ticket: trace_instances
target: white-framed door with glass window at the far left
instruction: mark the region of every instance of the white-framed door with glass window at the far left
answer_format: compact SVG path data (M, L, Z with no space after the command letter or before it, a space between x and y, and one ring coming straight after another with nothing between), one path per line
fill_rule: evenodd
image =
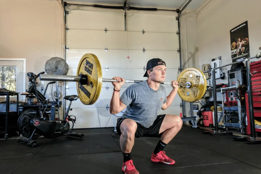
M20 94L25 89L25 79L23 72L23 61L2 61L0 59L0 88L6 88L10 91L16 91ZM25 101L24 96L19 95L19 101ZM5 97L1 96L1 101ZM16 97L10 96L10 100L16 100Z

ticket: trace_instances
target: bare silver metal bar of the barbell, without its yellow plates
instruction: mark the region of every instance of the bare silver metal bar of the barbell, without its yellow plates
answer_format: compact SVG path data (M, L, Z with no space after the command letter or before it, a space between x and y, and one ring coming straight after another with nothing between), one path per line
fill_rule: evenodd
M79 82L81 80L80 76L69 76L69 75L50 75L50 74L40 74L40 80L43 81L67 81L67 82ZM102 79L103 82L118 82L114 79ZM125 80L126 83L138 83L143 80ZM171 85L172 82L162 82L164 85ZM187 83L179 83L178 85L187 86Z

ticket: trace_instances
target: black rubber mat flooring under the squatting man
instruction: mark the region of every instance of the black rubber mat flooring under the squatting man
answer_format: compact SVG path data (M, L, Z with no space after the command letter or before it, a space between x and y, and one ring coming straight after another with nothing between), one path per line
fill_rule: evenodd
M0 173L108 173L123 174L120 137L111 129L76 130L78 138L38 139L30 148L17 140L0 140ZM183 126L164 149L176 164L150 161L158 138L135 139L134 165L140 173L261 173L261 145L213 137L201 129Z

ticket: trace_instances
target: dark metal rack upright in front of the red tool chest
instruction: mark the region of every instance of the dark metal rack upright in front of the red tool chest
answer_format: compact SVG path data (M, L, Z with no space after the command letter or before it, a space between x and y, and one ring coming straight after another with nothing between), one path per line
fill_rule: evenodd
M248 109L249 109L249 119L250 119L250 131L251 139L257 139L256 137L256 127L255 127L255 118L254 118L254 106L253 106L253 93L252 93L252 82L251 82L250 73L250 62L246 61L246 77L247 77L247 95L248 95Z

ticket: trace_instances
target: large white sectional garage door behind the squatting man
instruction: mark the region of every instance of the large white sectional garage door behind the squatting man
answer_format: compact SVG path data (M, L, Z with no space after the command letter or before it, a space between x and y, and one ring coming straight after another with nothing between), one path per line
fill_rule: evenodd
M127 31L124 31L123 10L77 6L66 8L69 11L66 16L69 28L66 38L66 46L69 47L66 52L69 65L67 75L76 75L81 57L85 53L92 53L99 58L103 78L120 76L129 80L146 80L143 77L143 68L146 67L147 61L151 58L161 58L167 64L166 81L176 80L180 63L175 12L172 15L158 15L157 12L146 14L142 11L127 11ZM105 28L108 30L106 33ZM105 47L108 51L105 51ZM125 83L121 94L131 84ZM66 85L66 95L77 94L75 82L66 82ZM172 87L165 87L169 94ZM73 101L73 110L69 115L77 117L75 128L112 127L113 117L107 107L110 105L112 93L112 84L103 82L100 96L93 105L84 105L79 99ZM165 111L162 110L160 114L179 115L180 102L181 99L177 95L171 106ZM68 106L69 102L66 105Z

